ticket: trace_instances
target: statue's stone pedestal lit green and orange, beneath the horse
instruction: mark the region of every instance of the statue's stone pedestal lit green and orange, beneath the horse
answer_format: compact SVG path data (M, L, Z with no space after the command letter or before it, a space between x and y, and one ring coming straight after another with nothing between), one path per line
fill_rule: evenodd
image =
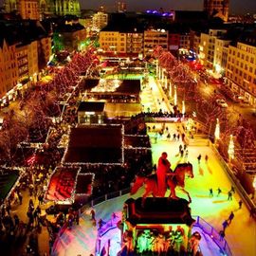
M141 197L130 198L122 218L126 255L186 255L195 222L187 200L148 197L142 203Z

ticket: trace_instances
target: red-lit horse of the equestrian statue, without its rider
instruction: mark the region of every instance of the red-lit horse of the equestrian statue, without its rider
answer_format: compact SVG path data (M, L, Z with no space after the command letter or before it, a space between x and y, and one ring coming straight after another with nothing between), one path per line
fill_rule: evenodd
M191 163L180 163L176 166L176 168L174 169L174 172L170 171L169 173L166 174L167 185L171 191L169 198L178 199L175 192L175 188L178 187L179 190L187 194L189 198L189 202L191 203L192 198L190 196L190 193L185 190L186 174L189 177L193 178ZM153 195L154 197L158 196L156 174L150 174L147 176L137 175L136 181L131 190L131 194L135 194L143 184L145 185L145 192L142 195L143 200L145 200L145 198L150 195Z

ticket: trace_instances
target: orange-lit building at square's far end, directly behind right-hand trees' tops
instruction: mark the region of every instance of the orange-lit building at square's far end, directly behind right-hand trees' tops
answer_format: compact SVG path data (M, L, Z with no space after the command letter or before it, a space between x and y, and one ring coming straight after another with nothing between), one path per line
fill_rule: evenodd
M144 31L144 56L151 55L155 46L168 50L169 32L165 29L147 29Z

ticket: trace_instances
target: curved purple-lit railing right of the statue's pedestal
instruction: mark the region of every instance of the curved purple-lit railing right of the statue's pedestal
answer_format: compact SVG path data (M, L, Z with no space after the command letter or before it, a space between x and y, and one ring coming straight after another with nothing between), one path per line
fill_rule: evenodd
M223 255L232 256L228 242L225 238L222 238L220 236L219 232L216 229L214 229L208 222L206 222L199 216L192 217L196 220L196 222L193 224L193 227L198 227L199 229L202 229L205 234L208 234L212 239L213 243L220 248L220 252Z

